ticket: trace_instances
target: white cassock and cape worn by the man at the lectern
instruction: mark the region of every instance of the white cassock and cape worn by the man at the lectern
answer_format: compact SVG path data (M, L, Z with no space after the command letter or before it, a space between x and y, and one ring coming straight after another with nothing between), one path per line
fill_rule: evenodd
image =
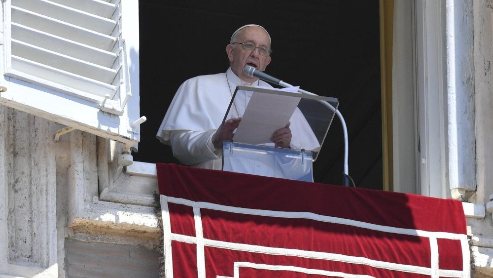
M222 149L214 148L211 137L224 119L239 85L272 87L262 80L247 83L236 76L231 68L226 73L188 79L178 88L156 137L171 146L173 155L181 163L220 170ZM231 118L243 116L250 97L251 94L237 94L235 108L230 111ZM312 150L319 147L301 111L296 109L290 122L292 149ZM304 138L306 143L301 143L302 134L305 134L303 137L311 134L310 140Z

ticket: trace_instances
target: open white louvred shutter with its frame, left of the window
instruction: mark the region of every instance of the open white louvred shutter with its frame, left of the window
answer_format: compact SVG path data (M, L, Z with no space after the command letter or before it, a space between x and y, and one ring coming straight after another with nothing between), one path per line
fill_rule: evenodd
M5 0L0 102L126 143L139 141L136 0Z

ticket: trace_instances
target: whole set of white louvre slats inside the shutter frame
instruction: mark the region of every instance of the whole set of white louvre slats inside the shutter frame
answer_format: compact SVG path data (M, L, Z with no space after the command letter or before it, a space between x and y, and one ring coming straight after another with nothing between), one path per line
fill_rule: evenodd
M116 97L122 82L120 4L11 0L11 72L85 97Z

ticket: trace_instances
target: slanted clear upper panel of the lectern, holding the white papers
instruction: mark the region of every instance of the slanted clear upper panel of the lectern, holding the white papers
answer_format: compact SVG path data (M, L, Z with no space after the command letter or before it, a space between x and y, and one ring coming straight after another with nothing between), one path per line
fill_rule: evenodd
M289 122L289 149L310 151L315 161L339 103L336 98L293 90L297 88L238 86L222 121L242 117L231 141L274 147L272 135Z

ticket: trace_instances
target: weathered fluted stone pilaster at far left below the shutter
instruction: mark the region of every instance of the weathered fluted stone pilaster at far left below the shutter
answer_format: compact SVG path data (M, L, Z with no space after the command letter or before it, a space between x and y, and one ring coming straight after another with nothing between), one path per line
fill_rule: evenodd
M2 274L56 273L55 159L48 135L53 123L0 106L3 144L0 154L4 192L0 210ZM48 143L47 143L48 142Z

